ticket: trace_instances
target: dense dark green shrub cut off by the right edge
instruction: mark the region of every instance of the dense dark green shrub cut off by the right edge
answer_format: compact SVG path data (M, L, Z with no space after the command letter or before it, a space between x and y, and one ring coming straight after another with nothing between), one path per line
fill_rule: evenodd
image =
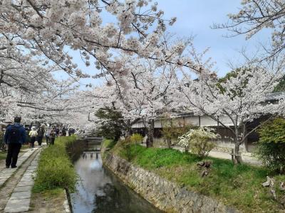
M285 173L285 119L277 118L259 129L257 155L271 171Z

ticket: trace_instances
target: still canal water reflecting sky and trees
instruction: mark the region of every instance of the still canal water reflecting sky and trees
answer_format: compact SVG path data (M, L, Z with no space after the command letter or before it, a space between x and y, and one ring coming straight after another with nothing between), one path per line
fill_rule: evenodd
M73 212L160 212L103 167L100 153L86 153L75 162L81 180L71 194Z

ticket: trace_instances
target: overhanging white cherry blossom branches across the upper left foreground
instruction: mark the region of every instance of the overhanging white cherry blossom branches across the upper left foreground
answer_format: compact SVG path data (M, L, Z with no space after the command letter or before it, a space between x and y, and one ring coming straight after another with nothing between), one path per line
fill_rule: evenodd
M103 13L113 21L105 23ZM1 1L1 32L12 35L16 45L44 55L68 74L87 77L68 49L78 50L86 65L116 78L125 62L120 54L137 55L160 64L179 64L195 70L188 58L180 55L182 44L165 47L163 33L167 24L157 4L145 0L121 1ZM196 70L199 71L199 70Z

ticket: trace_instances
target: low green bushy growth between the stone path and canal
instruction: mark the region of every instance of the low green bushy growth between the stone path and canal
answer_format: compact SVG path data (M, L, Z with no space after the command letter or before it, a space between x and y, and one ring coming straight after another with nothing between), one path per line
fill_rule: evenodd
M77 174L66 151L66 146L75 141L75 136L58 137L53 146L41 152L33 192L57 188L75 190Z

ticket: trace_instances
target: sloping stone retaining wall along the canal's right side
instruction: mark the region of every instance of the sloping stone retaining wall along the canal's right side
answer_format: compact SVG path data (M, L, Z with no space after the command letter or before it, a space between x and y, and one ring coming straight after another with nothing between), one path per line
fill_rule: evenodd
M165 212L239 212L222 202L185 190L155 173L135 167L112 153L104 153L103 163L126 185Z

